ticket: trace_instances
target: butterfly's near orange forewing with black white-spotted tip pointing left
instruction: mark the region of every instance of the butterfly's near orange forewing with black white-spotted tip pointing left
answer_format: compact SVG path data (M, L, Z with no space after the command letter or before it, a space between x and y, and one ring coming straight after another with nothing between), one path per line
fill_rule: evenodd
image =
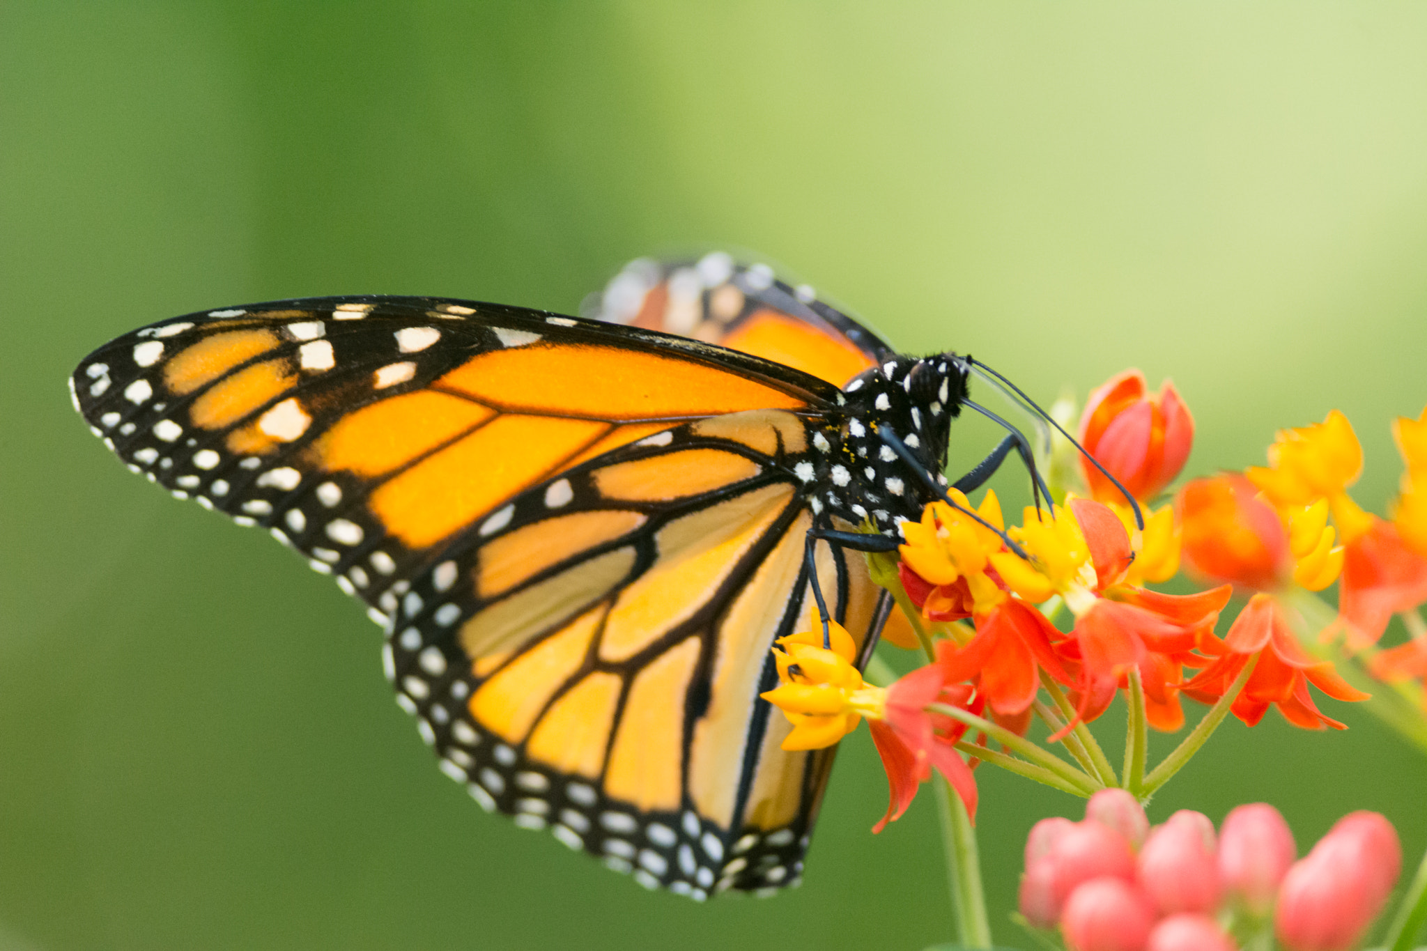
M428 298L194 314L107 344L71 386L131 469L268 528L382 615L452 536L564 469L684 421L836 399L694 341Z

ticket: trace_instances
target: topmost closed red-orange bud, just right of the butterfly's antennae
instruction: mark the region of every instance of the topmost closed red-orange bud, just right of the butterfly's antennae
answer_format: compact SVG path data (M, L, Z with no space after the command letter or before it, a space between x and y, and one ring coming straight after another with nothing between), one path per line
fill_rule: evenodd
M1184 468L1194 442L1194 419L1174 385L1147 394L1144 374L1127 369L1086 399L1080 445L1136 499L1152 499ZM1120 490L1087 459L1080 459L1090 493L1123 500Z

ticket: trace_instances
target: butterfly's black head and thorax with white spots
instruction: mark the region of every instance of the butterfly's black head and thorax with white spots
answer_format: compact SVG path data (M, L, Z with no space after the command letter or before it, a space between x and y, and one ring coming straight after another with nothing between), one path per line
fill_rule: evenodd
M816 468L799 473L819 486L811 500L813 512L853 525L870 520L883 533L902 519L920 518L936 496L878 433L890 431L946 485L940 473L950 422L966 398L966 364L955 354L890 356L855 376L842 391L841 429L813 438Z

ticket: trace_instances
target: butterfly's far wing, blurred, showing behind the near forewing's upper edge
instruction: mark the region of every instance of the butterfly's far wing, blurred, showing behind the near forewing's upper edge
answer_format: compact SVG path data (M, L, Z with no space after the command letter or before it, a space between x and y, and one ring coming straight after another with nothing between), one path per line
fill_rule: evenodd
M842 386L892 355L876 334L789 285L763 264L722 251L698 259L629 262L591 298L591 317L681 334L776 361Z

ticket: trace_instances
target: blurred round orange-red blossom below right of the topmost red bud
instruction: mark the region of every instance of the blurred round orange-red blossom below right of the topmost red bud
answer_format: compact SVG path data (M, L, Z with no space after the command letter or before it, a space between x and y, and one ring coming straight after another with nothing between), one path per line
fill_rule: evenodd
M1192 570L1257 590L1289 582L1289 533L1249 479L1229 473L1193 479L1179 490L1176 506Z

